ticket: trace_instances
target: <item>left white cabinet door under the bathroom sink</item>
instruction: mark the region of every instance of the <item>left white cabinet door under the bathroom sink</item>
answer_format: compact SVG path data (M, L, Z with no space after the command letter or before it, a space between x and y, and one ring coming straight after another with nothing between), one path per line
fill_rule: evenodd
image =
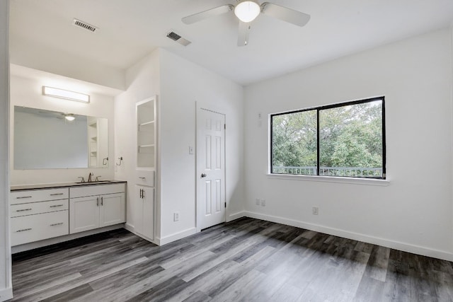
M99 227L98 196L69 199L69 233L78 233Z

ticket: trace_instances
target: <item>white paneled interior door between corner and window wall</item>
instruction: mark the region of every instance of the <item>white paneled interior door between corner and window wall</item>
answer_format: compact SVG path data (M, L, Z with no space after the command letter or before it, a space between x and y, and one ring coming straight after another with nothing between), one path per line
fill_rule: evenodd
M197 110L197 229L225 221L225 115Z

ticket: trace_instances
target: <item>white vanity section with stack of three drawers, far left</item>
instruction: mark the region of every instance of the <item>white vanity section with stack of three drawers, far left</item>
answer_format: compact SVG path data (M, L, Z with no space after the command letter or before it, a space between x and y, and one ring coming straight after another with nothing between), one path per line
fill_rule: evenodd
M69 234L69 189L11 192L11 245Z

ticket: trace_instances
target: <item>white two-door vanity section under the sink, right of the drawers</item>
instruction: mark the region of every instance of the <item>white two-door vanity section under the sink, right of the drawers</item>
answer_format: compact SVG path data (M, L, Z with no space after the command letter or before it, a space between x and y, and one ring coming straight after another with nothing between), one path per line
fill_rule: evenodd
M79 233L126 221L125 185L69 188L69 233Z

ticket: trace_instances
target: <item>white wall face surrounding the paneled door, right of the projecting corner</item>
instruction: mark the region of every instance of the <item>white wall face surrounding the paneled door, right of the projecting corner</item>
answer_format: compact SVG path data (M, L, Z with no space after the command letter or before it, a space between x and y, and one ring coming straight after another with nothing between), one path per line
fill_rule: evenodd
M243 88L161 50L161 240L195 231L195 102L226 114L226 217L243 211ZM179 221L173 213L180 212Z

